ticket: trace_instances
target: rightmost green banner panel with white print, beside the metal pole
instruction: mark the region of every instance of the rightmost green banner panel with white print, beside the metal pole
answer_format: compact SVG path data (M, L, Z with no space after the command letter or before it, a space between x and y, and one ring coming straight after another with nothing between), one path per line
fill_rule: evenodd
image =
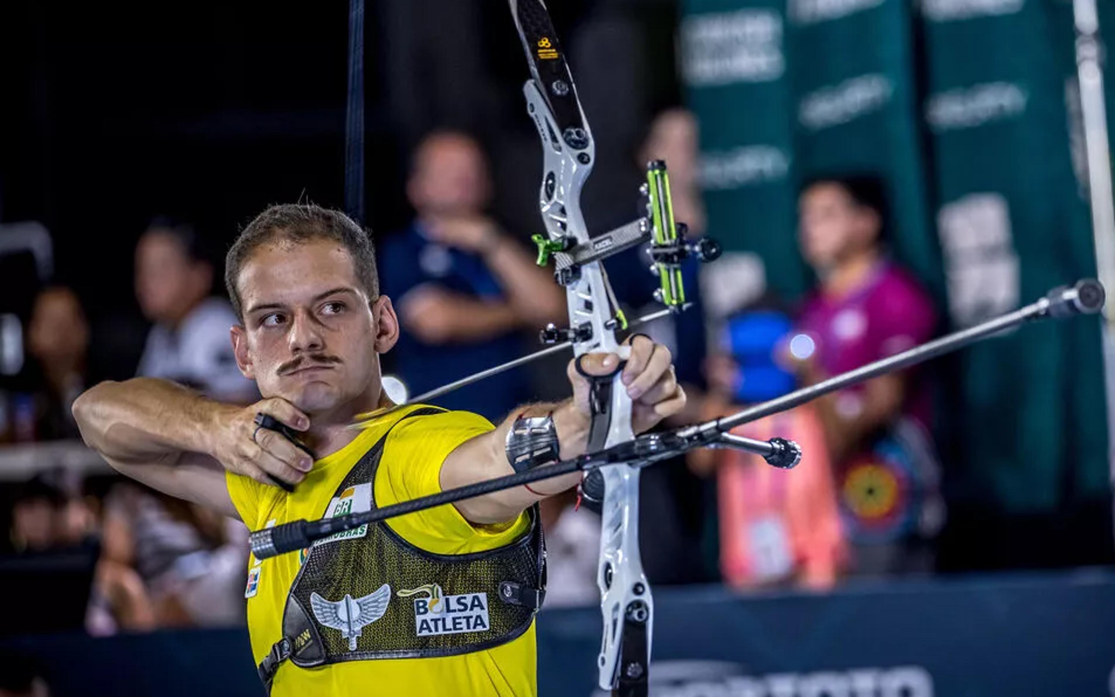
M1066 108L1070 12L1037 0L922 3L925 122L958 326L1095 274ZM962 370L964 464L980 491L1043 511L1069 488L1106 490L1095 321L992 339L966 352Z

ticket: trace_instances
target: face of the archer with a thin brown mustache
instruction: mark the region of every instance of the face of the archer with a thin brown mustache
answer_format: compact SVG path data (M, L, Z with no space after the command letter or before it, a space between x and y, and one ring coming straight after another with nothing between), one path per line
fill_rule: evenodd
M233 328L236 361L263 397L282 397L311 417L375 406L378 354L395 343L398 321L386 296L369 307L343 245L264 244L237 284L244 325Z

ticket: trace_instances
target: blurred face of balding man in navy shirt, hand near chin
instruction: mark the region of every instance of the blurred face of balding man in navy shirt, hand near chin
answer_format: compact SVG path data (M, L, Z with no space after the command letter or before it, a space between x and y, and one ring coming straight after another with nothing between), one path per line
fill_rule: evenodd
M418 149L407 184L410 204L420 216L476 215L488 199L484 155L471 139L435 136Z

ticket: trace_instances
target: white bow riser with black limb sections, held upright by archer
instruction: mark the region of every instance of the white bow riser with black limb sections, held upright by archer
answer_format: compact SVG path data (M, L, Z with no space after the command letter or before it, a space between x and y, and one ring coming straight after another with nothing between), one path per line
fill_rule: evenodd
M539 209L547 239L540 240L540 261L549 253L558 256L558 281L565 287L569 339L578 370L588 352L618 354L621 359L608 376L581 371L590 383L586 448L591 453L634 437L631 398L621 379L630 348L621 346L614 333L617 327L626 329L627 322L615 307L601 260L570 263L572 250L589 249L593 242L580 199L595 161L595 144L545 6L541 0L510 2L533 78L523 88L526 108L544 153ZM600 474L604 494L597 583L604 632L599 684L613 694L646 695L653 601L639 554L638 463L609 464Z

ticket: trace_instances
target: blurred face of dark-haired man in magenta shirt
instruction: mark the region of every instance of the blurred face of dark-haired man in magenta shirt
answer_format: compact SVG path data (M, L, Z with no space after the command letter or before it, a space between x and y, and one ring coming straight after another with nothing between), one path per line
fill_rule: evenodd
M798 202L802 255L816 271L838 265L864 245L874 243L878 216L859 205L844 187L822 183L806 190Z

